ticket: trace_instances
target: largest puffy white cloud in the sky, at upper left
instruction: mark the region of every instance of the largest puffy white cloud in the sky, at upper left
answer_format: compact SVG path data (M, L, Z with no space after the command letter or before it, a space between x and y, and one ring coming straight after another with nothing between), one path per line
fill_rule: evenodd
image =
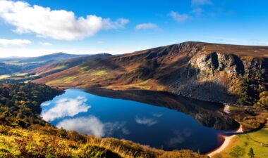
M59 40L75 40L92 37L102 29L124 27L129 20L112 21L97 15L76 17L72 11L51 10L31 6L24 1L0 1L0 18L13 25L20 34L35 33L37 37Z

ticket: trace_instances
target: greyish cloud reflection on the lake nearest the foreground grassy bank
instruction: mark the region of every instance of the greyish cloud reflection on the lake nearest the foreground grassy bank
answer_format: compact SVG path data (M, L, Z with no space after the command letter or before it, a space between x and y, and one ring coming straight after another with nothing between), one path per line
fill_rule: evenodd
M121 131L123 134L128 135L128 131L124 127L125 123L120 122L102 122L95 116L78 117L74 119L64 119L57 124L57 127L63 129L79 131L87 135L94 135L98 137L111 136L115 131Z

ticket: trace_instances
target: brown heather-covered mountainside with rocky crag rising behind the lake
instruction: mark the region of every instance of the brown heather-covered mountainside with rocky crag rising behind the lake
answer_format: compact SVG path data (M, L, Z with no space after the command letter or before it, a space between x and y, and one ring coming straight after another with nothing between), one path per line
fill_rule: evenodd
M268 89L267 65L268 46L185 42L91 58L34 82L61 88L169 91L217 103L245 97L241 104L253 104Z

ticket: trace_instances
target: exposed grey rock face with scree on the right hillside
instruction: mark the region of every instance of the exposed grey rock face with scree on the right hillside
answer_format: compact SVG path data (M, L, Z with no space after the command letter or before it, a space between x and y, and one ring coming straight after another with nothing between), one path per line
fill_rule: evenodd
M172 79L169 90L200 100L235 103L236 97L230 95L229 89L238 77L249 76L262 69L267 71L267 59L201 51L190 58L188 67L181 70L174 77L176 79Z

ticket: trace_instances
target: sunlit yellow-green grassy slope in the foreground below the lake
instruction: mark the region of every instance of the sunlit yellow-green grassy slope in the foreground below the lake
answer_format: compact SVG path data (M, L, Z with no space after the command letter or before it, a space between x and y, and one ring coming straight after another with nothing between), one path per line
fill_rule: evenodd
M0 157L105 157L105 153L113 157L193 157L202 158L188 150L165 152L151 147L132 143L128 140L114 138L95 138L80 136L77 133L63 136L63 131L53 127L35 127L37 129L9 128L0 125ZM58 132L58 134L55 134ZM52 133L54 132L54 134ZM61 133L61 136L59 134ZM85 141L85 140L86 141ZM96 148L92 151L92 148ZM105 151L102 153L102 151ZM95 153L93 153L95 152ZM94 156L93 156L94 155Z

